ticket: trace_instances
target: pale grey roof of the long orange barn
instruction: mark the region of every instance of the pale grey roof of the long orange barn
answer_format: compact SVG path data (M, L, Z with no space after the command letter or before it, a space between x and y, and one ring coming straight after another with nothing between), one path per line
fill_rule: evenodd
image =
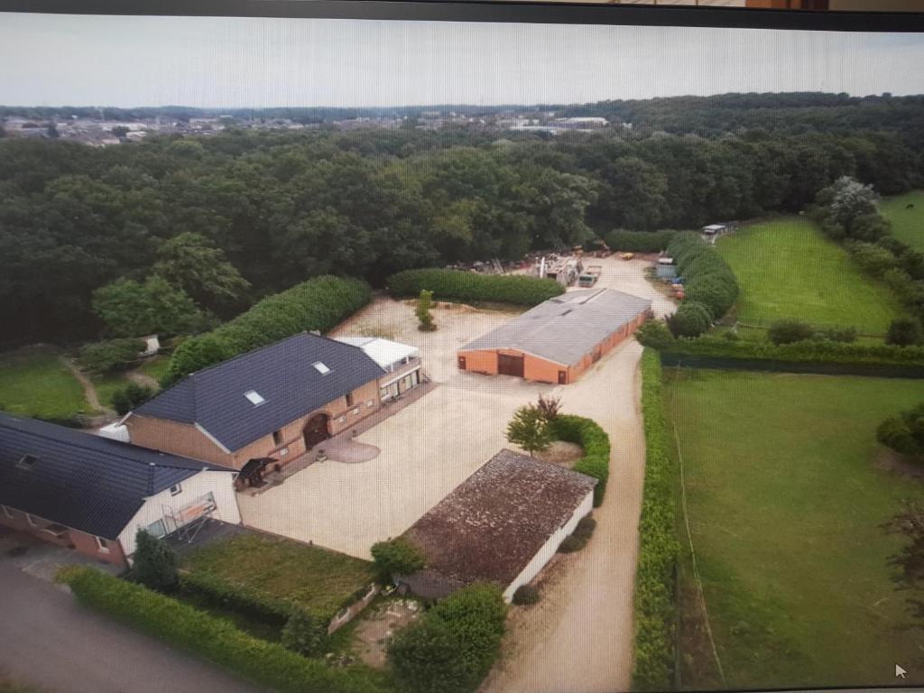
M519 349L570 366L650 308L648 298L614 289L567 291L482 334L459 350Z

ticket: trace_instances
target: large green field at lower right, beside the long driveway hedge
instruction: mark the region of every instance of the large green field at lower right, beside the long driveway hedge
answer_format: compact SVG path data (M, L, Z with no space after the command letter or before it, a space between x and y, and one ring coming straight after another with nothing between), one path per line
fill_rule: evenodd
M924 683L924 634L881 523L924 480L879 467L877 423L924 401L924 382L730 371L668 372L693 544L728 687ZM682 611L699 614L687 535ZM702 632L684 628L684 687L723 687ZM903 664L905 665L905 664Z

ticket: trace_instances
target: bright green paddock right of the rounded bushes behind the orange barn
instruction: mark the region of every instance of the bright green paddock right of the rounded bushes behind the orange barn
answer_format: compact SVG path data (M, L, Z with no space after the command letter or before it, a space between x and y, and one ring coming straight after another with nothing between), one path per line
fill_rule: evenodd
M787 217L749 226L717 248L741 285L741 322L801 318L885 334L900 312L888 289L860 274L845 250L807 220Z

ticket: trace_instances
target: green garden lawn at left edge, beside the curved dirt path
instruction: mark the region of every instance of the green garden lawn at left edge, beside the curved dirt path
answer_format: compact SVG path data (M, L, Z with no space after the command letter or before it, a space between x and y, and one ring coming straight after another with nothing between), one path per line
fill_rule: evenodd
M27 417L67 418L88 411L83 388L50 348L0 354L0 409Z

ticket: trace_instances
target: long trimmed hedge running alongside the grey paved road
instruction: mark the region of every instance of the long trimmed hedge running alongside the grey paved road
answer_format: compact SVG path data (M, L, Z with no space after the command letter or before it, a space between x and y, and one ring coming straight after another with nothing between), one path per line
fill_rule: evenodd
M253 638L227 621L93 568L66 568L60 578L85 606L193 652L260 687L291 693L383 690L362 672L332 669L321 660Z

